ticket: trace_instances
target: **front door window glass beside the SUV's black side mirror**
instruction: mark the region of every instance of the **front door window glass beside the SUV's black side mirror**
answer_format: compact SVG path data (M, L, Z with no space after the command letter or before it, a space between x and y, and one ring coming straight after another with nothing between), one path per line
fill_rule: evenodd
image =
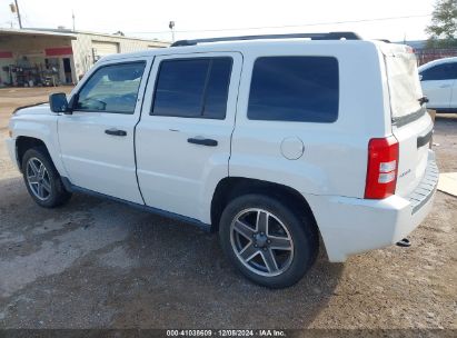
M101 67L82 87L74 110L133 113L146 62Z

